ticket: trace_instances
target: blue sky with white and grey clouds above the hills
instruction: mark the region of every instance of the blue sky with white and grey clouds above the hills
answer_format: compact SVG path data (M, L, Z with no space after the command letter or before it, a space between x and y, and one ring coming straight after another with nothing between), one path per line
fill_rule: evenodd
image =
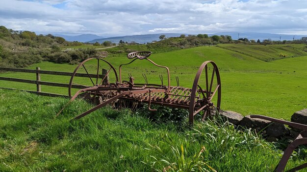
M307 0L0 0L0 25L37 34L307 34Z

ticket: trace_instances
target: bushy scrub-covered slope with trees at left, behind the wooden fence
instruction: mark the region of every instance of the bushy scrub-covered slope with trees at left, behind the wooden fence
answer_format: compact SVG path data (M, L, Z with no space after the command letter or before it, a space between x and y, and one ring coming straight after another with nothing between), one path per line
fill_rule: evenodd
M26 67L42 61L77 64L90 57L105 56L95 49L65 51L61 48L82 44L67 42L51 34L36 35L35 32L14 31L0 26L0 66Z

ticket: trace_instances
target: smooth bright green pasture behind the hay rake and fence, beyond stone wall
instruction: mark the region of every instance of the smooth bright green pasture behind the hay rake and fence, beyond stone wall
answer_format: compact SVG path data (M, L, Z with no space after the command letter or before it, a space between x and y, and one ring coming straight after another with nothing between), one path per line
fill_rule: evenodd
M231 46L242 54L219 46ZM222 81L221 108L233 110L243 115L262 114L276 118L290 119L293 112L306 108L307 105L307 56L295 55L281 60L265 62L248 54L255 53L257 57L278 57L281 52L270 51L271 45L222 44L219 46L203 46L181 49L166 53L151 55L157 64L168 66L171 71L171 85L176 86L176 76L179 76L180 86L192 87L199 66L207 61L214 61L220 70ZM261 51L254 51L251 46L258 46ZM273 45L272 45L273 46ZM280 46L280 47L278 47ZM288 45L274 45L275 49L283 49ZM299 47L301 45L289 45ZM302 45L303 46L303 45ZM266 48L266 49L263 49ZM286 54L294 53L283 50ZM293 55L294 56L294 55ZM278 59L278 58L277 58ZM127 57L105 58L118 69L119 64L128 63ZM92 65L95 65L94 62ZM73 72L76 65L53 64L42 62L29 68L39 66L42 70ZM108 68L107 68L108 69ZM140 61L124 68L125 80L128 72L136 79L136 83L144 82L142 73L147 75L150 83L160 83L159 73L163 74L166 82L165 70L157 69L152 64ZM35 74L1 73L3 77L17 77L35 80ZM43 81L69 83L70 77L42 75ZM1 87L35 90L35 85L0 81ZM42 86L42 91L67 94L67 88Z

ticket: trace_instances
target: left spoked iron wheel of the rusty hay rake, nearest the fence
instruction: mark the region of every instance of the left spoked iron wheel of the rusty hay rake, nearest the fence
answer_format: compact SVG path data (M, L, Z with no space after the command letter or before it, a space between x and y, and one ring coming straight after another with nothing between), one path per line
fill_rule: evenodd
M87 59L75 69L69 82L68 95L74 96L80 88L107 86L109 79L115 80L114 83L118 82L116 70L110 63L101 58ZM81 93L78 97L98 105L109 99L110 96L112 96L110 90L93 90Z

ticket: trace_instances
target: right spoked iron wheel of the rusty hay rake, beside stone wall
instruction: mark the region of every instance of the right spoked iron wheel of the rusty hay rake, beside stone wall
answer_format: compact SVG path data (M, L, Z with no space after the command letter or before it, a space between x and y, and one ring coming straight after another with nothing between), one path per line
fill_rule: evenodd
M202 111L203 121L213 116L216 110L220 110L220 105L220 73L214 62L206 61L200 66L194 79L190 98L189 123L193 125L194 116Z

